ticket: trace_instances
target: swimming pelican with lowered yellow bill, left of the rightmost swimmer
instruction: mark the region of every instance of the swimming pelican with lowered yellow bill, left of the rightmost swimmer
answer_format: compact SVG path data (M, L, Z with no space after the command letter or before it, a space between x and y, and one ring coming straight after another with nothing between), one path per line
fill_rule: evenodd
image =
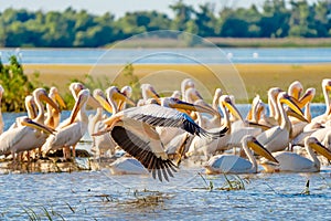
M204 166L206 173L256 173L257 162L248 148L270 161L277 162L273 155L254 136L246 135L243 137L242 147L249 161L236 155L217 155L212 157Z

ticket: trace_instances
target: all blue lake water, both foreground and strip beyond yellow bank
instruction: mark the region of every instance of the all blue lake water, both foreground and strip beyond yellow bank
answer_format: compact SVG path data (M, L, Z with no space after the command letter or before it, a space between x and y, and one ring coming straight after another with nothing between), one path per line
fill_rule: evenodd
M0 49L23 64L328 63L331 49ZM248 105L237 105L246 115ZM312 115L325 106L313 104ZM63 112L63 118L68 116ZM4 113L6 129L25 113ZM89 140L85 136L84 140ZM77 148L90 148L78 144ZM113 176L107 169L61 173L0 173L0 220L331 220L331 167L317 173L239 176L245 189L226 189L225 177L181 166L170 182L151 176ZM202 173L202 175L201 175ZM227 176L229 180L237 177ZM307 180L310 194L305 194ZM214 189L209 190L210 183ZM35 214L35 215L34 215Z

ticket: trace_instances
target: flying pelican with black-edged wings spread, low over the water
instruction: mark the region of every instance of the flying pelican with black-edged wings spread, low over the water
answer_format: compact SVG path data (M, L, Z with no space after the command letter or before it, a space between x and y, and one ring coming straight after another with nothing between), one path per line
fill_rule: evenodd
M169 181L168 177L173 177L172 172L175 171L175 166L164 151L160 136L156 131L157 126L180 127L192 135L214 138L223 136L227 128L209 133L196 125L186 114L174 109L199 112L205 110L205 107L173 97L162 98L161 105L150 104L124 109L106 119L107 129L95 135L110 131L118 146L138 159L152 172L154 179L158 176L160 181L162 181L162 177Z

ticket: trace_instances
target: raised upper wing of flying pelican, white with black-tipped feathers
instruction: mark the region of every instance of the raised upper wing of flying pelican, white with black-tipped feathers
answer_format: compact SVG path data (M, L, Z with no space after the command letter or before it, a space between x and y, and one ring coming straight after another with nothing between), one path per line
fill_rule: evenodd
M227 127L224 127L216 133L206 131L195 124L186 114L154 104L132 107L125 110L124 114L126 117L143 122L154 127L179 127L197 136L202 135L205 137L218 138L224 136L227 130Z

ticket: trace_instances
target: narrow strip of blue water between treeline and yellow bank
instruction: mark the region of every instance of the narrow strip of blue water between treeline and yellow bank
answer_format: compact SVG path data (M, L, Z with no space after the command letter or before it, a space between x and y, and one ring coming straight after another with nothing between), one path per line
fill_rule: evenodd
M218 64L330 63L331 48L316 49L0 49L3 62L18 54L23 64Z

